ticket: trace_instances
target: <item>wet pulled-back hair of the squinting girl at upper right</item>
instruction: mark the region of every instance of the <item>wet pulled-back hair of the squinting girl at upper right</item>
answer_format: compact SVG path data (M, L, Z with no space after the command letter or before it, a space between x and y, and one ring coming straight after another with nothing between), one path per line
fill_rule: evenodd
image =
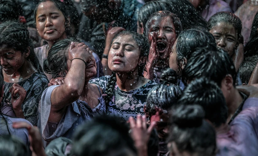
M210 31L212 29L212 27L216 26L218 23L229 23L231 24L237 33L237 40L236 42L238 42L238 40L240 41L240 43L244 44L244 38L241 35L241 31L242 31L242 22L240 20L239 17L237 17L235 14L231 13L231 12L218 12L214 15L211 16L211 18L209 19L208 22L208 31Z

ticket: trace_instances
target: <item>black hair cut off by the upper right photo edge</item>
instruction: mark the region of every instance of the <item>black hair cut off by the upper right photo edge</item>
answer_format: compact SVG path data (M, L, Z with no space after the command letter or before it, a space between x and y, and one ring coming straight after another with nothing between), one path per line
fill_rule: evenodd
M258 55L258 12L255 14L251 31L250 31L250 37L248 42L245 44L244 47L244 57L249 57L253 55Z

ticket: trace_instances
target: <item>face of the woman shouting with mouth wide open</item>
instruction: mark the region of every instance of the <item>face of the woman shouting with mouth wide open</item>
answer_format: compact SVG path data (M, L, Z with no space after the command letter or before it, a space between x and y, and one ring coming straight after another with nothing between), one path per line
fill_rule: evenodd
M169 16L153 17L149 34L154 32L157 32L156 45L159 59L167 59L176 40L176 31L171 18Z

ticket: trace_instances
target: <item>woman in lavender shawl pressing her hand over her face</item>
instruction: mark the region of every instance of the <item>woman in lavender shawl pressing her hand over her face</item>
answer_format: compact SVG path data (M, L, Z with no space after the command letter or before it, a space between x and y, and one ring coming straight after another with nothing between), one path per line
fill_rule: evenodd
M44 70L53 78L65 77L62 85L48 87L41 97L38 127L45 147L55 138L71 138L78 125L105 114L106 105L102 89L89 83L96 75L92 51L79 40L56 41L44 61Z

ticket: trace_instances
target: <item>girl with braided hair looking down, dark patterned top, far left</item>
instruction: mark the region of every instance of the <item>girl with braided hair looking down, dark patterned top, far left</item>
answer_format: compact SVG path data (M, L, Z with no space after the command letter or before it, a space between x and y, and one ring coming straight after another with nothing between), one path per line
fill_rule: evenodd
M13 105L16 117L25 118L36 126L39 101L48 80L34 53L29 31L23 24L8 21L0 25L0 58L4 77L3 100L11 104L18 93L24 101Z

